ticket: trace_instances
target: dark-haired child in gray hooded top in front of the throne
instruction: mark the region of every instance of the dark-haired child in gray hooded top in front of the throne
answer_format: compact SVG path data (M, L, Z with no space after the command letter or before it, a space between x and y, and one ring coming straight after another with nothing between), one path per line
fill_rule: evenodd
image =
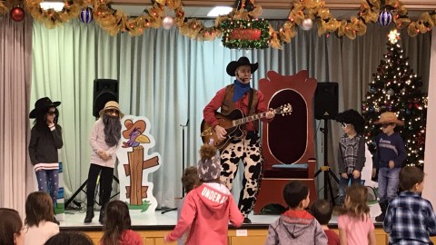
M309 206L309 188L301 181L290 181L283 189L289 206L268 230L265 245L270 244L327 244L327 236L318 220L304 209Z

